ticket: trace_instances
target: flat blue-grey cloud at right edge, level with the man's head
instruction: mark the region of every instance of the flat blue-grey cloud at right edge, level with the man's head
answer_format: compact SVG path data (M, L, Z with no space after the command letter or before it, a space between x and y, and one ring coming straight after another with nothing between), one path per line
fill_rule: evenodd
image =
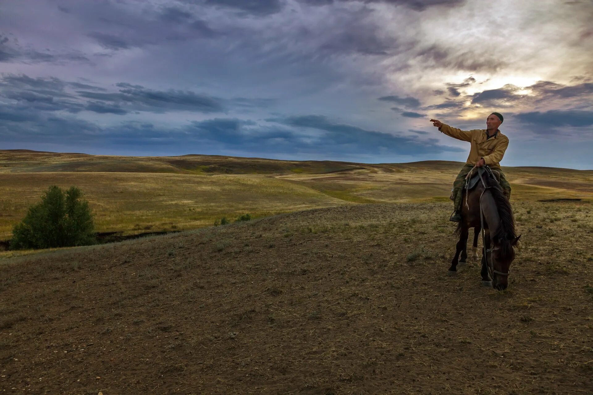
M538 129L533 131L540 131L546 133L549 127L585 127L593 125L593 111L579 111L579 110L549 110L549 111L534 111L531 113L522 113L515 115L519 121L537 126ZM591 133L589 131L589 133Z

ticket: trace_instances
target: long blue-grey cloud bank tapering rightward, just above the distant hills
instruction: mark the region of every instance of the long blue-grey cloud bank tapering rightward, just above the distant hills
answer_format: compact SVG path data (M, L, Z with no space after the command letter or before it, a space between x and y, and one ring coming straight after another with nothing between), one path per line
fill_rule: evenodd
M167 145L180 152L232 149L234 152L311 155L461 152L441 146L435 140L419 142L415 138L391 136L345 124L332 123L324 117L285 118L283 124L263 126L237 118L214 118L193 121L181 127L156 127L151 123L123 122L101 127L72 117L26 114L0 110L0 133L7 142L52 143L56 139L69 144L93 144L120 149ZM320 131L314 137L303 134L306 127Z

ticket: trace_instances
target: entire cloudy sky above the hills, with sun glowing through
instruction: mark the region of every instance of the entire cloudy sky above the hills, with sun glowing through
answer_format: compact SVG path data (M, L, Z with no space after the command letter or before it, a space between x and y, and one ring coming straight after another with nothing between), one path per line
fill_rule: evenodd
M0 149L593 169L593 2L4 0Z

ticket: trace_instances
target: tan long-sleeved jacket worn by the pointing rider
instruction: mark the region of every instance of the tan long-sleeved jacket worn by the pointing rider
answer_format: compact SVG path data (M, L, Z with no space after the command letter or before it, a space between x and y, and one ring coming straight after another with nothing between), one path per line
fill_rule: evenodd
M484 158L486 165L492 168L500 168L500 160L505 155L506 147L509 146L508 137L500 133L500 130L497 130L490 139L486 139L485 129L461 130L442 124L439 130L447 134L447 136L471 143L467 163L475 165L480 158Z

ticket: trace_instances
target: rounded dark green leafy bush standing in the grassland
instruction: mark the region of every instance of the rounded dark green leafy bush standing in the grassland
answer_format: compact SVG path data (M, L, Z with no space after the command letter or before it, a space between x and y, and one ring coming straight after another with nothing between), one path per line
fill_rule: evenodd
M53 185L12 229L11 249L55 248L95 242L93 213L82 191Z

